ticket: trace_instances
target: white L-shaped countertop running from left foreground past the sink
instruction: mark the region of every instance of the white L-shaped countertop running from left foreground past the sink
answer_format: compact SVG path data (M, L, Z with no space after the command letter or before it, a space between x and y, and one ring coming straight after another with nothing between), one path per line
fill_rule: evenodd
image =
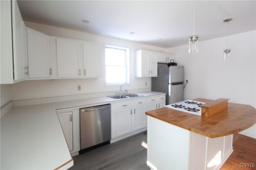
M136 93L143 96L161 92ZM1 169L55 169L73 165L56 109L129 99L87 98L13 107L1 118ZM69 166L69 167L70 167Z

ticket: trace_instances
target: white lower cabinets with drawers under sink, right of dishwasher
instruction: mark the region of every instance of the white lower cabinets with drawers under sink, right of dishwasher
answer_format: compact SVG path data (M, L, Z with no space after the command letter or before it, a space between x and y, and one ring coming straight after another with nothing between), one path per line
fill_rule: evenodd
M111 104L112 142L146 130L145 112L164 106L165 94L122 100Z

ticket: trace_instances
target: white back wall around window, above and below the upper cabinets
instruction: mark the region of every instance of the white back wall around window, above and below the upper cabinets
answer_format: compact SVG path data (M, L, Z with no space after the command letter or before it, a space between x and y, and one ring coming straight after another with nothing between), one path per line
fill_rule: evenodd
M27 27L45 33L51 36L79 39L95 43L103 43L127 47L130 49L130 86L124 86L123 89L143 89L151 88L150 78L134 77L134 54L136 50L145 49L150 51L166 52L166 49L134 43L110 37L93 35L85 32L42 25L38 23L25 22ZM104 69L103 69L104 70ZM147 82L147 86L145 86ZM77 91L77 85L81 85L82 90ZM86 94L94 92L118 91L119 86L105 86L104 78L94 79L70 79L70 80L27 80L11 85L12 100L46 98L55 96L66 96L75 94Z

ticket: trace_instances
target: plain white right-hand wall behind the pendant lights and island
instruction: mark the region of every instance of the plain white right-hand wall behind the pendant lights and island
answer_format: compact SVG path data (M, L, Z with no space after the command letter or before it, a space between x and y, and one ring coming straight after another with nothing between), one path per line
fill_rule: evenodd
M184 65L188 80L185 99L228 98L229 102L256 107L256 31L228 39L230 61L223 60L226 37L199 42L198 54L188 54L188 45L168 49L178 65ZM256 126L243 134L256 138Z

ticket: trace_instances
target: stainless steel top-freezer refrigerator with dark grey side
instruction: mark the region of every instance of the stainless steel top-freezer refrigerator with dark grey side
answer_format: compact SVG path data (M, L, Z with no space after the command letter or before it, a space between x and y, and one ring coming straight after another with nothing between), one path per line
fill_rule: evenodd
M166 105L184 100L184 66L158 63L158 76L152 77L151 90L166 93Z

